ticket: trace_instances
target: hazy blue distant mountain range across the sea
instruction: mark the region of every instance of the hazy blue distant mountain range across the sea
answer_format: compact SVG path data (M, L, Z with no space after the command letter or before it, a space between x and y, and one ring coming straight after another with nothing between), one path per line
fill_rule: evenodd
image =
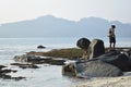
M31 21L7 23L0 26L0 38L19 37L107 37L110 25L116 25L117 37L131 37L131 24L85 17L79 22L51 15Z

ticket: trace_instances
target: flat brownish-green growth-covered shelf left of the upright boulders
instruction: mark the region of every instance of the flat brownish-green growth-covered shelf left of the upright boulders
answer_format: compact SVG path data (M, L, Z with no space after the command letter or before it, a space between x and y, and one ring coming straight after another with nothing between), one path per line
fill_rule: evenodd
M78 59L83 54L83 50L78 48L69 49L53 49L48 52L28 52L27 54L43 55L43 57L53 57L53 58L67 58L67 59Z

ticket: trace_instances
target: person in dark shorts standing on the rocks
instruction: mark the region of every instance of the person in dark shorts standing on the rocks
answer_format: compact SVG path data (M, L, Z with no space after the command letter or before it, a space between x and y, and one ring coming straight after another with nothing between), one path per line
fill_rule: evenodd
M115 25L111 25L111 28L109 28L109 48L110 50L115 50L115 46L116 46L116 36L115 36Z

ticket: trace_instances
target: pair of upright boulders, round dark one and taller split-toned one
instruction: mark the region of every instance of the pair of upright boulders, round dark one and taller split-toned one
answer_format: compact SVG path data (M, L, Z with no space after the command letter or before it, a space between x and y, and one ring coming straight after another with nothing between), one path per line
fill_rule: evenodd
M81 38L76 46L84 50L83 59L92 59L105 53L104 41L100 39L90 41L87 38Z

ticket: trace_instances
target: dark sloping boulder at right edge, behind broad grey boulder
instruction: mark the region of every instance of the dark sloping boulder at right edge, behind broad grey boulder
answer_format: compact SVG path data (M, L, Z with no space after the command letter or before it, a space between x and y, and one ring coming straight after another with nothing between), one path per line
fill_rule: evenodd
M97 59L100 59L102 61L112 64L117 67L119 67L122 72L129 72L131 71L131 60L129 57L127 57L124 53L120 53L119 51L110 51L107 52Z

